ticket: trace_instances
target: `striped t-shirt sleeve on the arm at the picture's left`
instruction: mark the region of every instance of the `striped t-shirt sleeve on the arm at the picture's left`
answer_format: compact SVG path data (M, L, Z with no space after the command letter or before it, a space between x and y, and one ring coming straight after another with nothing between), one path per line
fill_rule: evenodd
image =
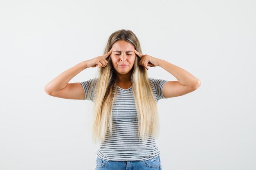
M97 79L88 79L84 82L80 82L83 87L85 98L83 100L90 100L94 102L95 90L97 85Z

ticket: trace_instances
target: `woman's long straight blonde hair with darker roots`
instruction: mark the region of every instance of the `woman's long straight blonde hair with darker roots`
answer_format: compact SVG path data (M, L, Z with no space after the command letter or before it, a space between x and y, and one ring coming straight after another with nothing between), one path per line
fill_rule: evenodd
M130 30L121 29L112 33L108 39L104 54L110 51L112 45L118 40L126 40L135 46L136 51L142 53L139 40ZM109 128L112 135L112 106L117 97L117 82L115 70L112 66L111 57L106 58L107 66L99 68L99 78L97 82L97 92L93 107L92 139L94 143L105 140L106 132ZM157 102L154 99L150 87L146 68L139 65L140 57L136 55L134 66L132 67L130 81L132 83L132 93L135 97L137 108L137 120L139 126L138 136L140 140L146 140L149 136L158 136L159 117ZM114 95L114 97L113 97Z

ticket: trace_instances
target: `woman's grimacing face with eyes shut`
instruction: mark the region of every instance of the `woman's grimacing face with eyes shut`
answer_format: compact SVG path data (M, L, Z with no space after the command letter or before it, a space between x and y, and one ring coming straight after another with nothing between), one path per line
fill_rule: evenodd
M134 46L125 40L112 45L111 61L117 73L124 75L131 71L136 57L133 49Z

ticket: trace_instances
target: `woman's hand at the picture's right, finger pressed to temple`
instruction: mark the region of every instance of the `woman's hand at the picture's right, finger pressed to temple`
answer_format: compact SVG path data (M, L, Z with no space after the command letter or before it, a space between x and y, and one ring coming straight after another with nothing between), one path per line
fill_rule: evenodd
M140 61L139 61L139 65L144 66L147 70L148 70L148 66L150 67L155 67L158 66L158 58L152 57L150 55L143 55L141 53L139 53L138 51L136 51L134 49L135 54L137 54L139 57L141 57Z

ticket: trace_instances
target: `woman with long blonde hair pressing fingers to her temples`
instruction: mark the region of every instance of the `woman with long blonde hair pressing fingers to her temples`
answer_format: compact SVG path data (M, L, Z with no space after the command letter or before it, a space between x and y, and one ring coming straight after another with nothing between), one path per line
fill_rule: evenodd
M178 81L148 78L146 69L155 66ZM90 67L99 68L98 78L68 83ZM159 128L157 102L190 93L199 86L200 80L184 69L142 54L136 35L122 29L110 35L104 55L64 71L45 86L45 92L94 102L92 137L101 143L96 169L161 170L155 144Z

